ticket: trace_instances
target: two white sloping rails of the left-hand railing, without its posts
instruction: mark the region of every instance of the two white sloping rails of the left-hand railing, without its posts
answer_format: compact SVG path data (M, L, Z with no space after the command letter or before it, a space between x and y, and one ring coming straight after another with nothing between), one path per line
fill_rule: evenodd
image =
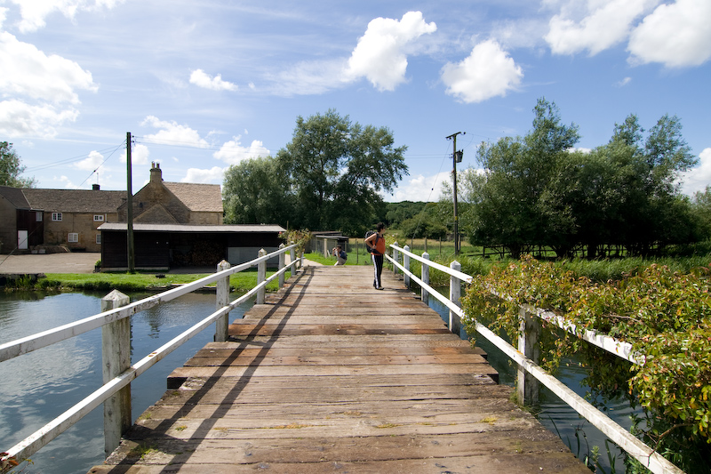
M121 309L104 311L102 313L94 315L93 317L84 318L77 322L80 323L78 325L62 325L58 328L55 328L55 330L37 333L36 336L41 335L41 340L44 342L47 341L47 339L50 337L48 334L60 334L64 336L64 334L75 330L74 333L71 333L71 335L67 337L63 337L62 339L57 339L49 343L45 343L42 346L32 346L31 342L33 341L33 339L30 336L28 338L22 338L17 341L12 341L8 344L4 344L3 346L0 346L0 349L4 348L8 352L11 351L11 349L26 349L25 351L20 351L20 353L17 354L20 355L25 354L31 350L39 349L40 347L50 345L55 342L63 341L65 339L68 339L68 337L91 331L92 329L98 328L101 325L112 323L118 319L121 319L122 317L128 317L140 312L141 310L152 308L157 304L160 304L161 302L174 300L175 298L178 298L183 294L191 293L198 288L202 288L206 283L212 283L214 281L220 280L221 278L228 278L234 273L237 273L244 269L249 269L254 265L259 264L260 262L266 262L274 256L280 255L282 253L285 254L286 252L291 251L294 248L296 248L296 245L290 245L288 247L280 248L279 250L273 253L268 253L252 261L237 265L236 267L231 267L229 269L218 271L208 277L200 278L195 282L189 283L187 285L182 285L178 288L168 290L164 293L159 293L157 295L144 298L143 300L136 301L133 304L124 306ZM154 366L158 361L170 354L173 350L178 349L183 343L190 340L197 333L200 333L205 328L212 325L212 323L217 321L220 317L224 317L229 313L229 311L235 309L244 301L249 300L253 295L264 289L276 277L283 275L286 270L292 269L298 262L298 259L293 259L288 265L284 265L284 268L278 269L278 271L276 271L270 277L265 278L258 285L255 285L249 292L237 298L235 301L229 302L227 305L221 307L220 309L216 309L215 312L213 312L210 316L205 317L203 320L196 323L196 325L193 325L192 327L188 328L188 330L174 337L171 341L166 342L160 348L156 349L153 352L150 352L148 356L140 359L140 361L130 366L122 374L119 374L112 380L103 383L98 390L94 390L92 394L85 397L75 406L72 406L67 411L53 419L51 422L45 424L41 429L36 430L27 438L24 438L22 441L20 441L20 443L16 444L15 446L12 446L12 448L4 452L4 455L0 457L0 466L3 465L2 462L5 462L9 459L14 459L15 461L21 462L27 459L30 455L36 453L40 448L52 441L52 439L57 438L62 432L64 432L76 422L84 418L84 416L86 414L89 414L94 408L100 406L108 398L116 395L119 390L122 390L126 385L131 383L140 374L146 372L148 368ZM166 295L167 297L165 297ZM139 304L142 302L145 302L145 305ZM103 320L103 322L97 324L101 320ZM2 360L5 359L0 359L0 362L2 362ZM0 471L3 471L2 467L0 467Z

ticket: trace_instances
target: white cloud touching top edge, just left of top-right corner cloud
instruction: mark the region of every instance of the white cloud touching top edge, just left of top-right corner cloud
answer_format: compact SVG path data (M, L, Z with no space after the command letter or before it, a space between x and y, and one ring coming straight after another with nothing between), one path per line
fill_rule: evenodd
M587 50L590 55L595 55L625 41L635 19L659 4L659 0L587 0L573 4L570 9L555 15L548 24L549 30L544 38L555 54ZM587 16L579 21L570 18L579 11L584 11Z

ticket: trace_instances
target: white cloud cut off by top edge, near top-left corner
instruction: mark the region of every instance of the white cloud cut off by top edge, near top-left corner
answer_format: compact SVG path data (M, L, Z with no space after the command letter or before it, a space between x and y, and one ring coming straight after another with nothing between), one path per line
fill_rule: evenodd
M60 12L70 20L74 20L76 12L96 11L102 7L114 8L123 0L10 0L20 6L20 31L29 33L44 28L47 16Z

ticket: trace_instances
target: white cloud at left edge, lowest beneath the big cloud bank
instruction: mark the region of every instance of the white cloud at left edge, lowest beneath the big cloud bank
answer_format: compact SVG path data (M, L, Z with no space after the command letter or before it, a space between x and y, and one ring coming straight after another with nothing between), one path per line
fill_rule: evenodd
M76 121L74 108L58 109L49 104L30 105L20 100L0 101L0 135L52 138L55 126Z

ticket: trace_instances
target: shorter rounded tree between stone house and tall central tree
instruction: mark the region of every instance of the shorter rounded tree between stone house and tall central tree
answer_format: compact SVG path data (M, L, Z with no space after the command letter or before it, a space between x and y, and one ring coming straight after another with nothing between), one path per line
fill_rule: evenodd
M288 191L287 181L272 157L232 165L225 172L222 189L225 222L285 227L292 211Z

